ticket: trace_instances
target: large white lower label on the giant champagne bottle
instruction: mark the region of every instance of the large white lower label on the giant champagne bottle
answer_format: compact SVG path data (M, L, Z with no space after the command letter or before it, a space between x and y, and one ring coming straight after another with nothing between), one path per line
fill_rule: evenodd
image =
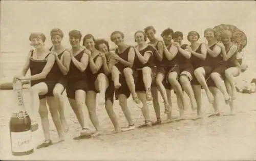
M13 152L26 152L34 148L32 132L11 132L11 144Z

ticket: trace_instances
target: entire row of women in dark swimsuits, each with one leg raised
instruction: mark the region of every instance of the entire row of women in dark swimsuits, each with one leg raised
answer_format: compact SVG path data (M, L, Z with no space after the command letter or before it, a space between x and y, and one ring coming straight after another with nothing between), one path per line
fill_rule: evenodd
M69 103L81 126L80 135L74 139L83 139L91 135L101 134L96 115L96 96L98 105L105 104L106 111L114 125L115 132L135 129L132 114L127 107L127 98L132 95L134 102L141 108L145 124L148 127L162 123L158 90L164 100L167 121L172 122L172 100L170 90L174 89L180 111L184 118L186 101L184 93L189 96L191 108L201 113L201 88L204 88L215 113L220 114L217 90L224 96L226 103L233 110L236 97L233 77L244 70L245 66L236 60L237 46L231 42L231 33L224 31L222 43L216 39L216 31L206 29L206 43L199 43L200 35L191 31L187 35L191 43L182 44L182 32L166 29L161 36L163 41L155 37L156 30L149 26L134 35L136 47L124 42L124 34L114 31L110 38L117 48L109 49L108 41L95 40L93 35L83 37L78 30L69 32L71 49L61 45L63 32L60 29L51 31L53 46L47 49L44 45L46 37L42 33L32 33L29 37L33 50L27 56L20 76L14 80L31 80L30 96L32 120L31 130L36 130L36 107L39 107L45 141L37 148L52 145L50 139L48 109L49 105L53 122L56 126L59 141L64 141L64 132L69 126L63 110L62 93L66 89ZM150 40L147 43L147 39ZM30 69L31 76L26 76ZM115 95L115 98L114 98ZM114 99L119 100L127 127L120 128L113 110ZM148 102L153 102L157 121L152 123L148 110ZM89 117L96 131L91 131L84 123L82 109L88 108Z

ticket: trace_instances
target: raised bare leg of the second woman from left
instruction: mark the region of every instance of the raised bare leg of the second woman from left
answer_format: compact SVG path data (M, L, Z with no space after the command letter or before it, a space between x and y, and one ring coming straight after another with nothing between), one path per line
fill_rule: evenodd
M59 118L60 118L60 122L63 127L63 130L64 130L64 132L68 132L69 126L65 119L64 102L63 102L63 97L61 94L63 90L64 90L64 87L62 84L59 84L59 83L56 84L53 89L53 96L55 98L55 101L57 102L56 106L58 107Z

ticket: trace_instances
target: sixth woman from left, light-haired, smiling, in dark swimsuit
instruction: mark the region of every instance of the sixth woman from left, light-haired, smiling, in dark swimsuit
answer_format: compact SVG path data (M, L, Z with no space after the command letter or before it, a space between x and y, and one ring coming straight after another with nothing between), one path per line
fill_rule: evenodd
M127 98L132 94L136 104L140 104L140 100L135 91L136 71L134 70L135 50L130 45L124 43L124 34L120 31L114 31L110 36L111 41L117 45L115 54L111 54L111 58L118 62L112 67L112 77L115 86L116 97L123 110L129 126L121 128L122 131L134 130L135 125L127 107Z

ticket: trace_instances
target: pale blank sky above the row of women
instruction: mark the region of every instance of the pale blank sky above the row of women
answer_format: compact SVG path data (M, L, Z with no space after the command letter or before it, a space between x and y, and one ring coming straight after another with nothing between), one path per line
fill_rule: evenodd
M191 30L204 42L204 29L230 24L245 32L246 48L255 54L255 7L254 1L1 1L0 51L26 55L31 32L45 33L50 47L55 27L65 34L62 44L70 47L68 32L73 29L109 42L111 32L119 30L127 44L134 44L134 33L152 25L157 37L170 27L183 32L184 42Z

